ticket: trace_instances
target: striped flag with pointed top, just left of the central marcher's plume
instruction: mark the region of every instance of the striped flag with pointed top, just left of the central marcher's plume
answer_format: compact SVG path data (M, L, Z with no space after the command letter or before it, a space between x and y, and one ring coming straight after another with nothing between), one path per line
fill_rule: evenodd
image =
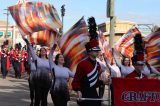
M71 71L75 71L77 64L87 56L85 44L89 41L88 35L88 28L82 17L60 39L60 50Z

